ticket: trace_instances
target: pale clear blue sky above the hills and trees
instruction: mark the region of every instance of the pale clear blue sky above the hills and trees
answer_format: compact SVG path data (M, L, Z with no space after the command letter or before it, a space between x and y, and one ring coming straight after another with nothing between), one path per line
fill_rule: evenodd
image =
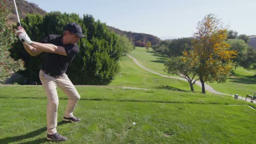
M19 0L18 0L19 1ZM47 11L91 14L123 31L161 39L191 37L197 22L217 15L238 34L256 35L256 0L27 0Z

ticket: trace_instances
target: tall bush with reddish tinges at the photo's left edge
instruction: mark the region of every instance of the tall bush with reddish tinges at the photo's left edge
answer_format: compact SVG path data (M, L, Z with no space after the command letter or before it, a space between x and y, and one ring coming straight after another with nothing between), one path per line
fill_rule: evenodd
M0 83L4 83L8 77L18 70L24 69L24 63L19 59L14 61L10 57L11 45L17 41L13 29L7 23L9 9L0 1Z

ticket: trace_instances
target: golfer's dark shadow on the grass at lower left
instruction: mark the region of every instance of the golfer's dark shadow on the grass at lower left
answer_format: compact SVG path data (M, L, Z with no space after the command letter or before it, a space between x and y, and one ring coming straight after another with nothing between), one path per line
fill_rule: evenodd
M65 123L68 123L68 122L61 121L61 122L58 122L58 125L62 125L62 124L65 124ZM4 139L0 139L0 143L18 142L18 141L21 141L21 140L30 139L32 137L35 137L35 136L38 136L38 135L44 133L46 131L46 129L47 128L44 127L44 128L40 128L40 129L31 131L30 133L27 133L27 134L24 134L24 135L5 137ZM45 138L30 141L30 142L24 142L24 143L43 143L45 141L48 141L48 140L46 140L46 135L45 135Z

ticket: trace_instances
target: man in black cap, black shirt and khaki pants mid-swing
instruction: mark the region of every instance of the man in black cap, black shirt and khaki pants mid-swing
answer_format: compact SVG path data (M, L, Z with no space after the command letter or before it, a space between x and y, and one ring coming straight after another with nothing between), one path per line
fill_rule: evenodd
M19 36L26 51L31 56L43 53L42 68L39 72L40 81L45 89L47 105L47 139L51 141L66 141L67 138L57 133L57 109L59 98L56 87L60 87L68 96L68 103L63 120L80 122L74 117L73 111L80 95L73 83L68 79L66 71L69 63L79 52L77 42L85 37L82 28L77 23L69 23L63 35L48 35L41 43L31 41L22 27L18 27Z

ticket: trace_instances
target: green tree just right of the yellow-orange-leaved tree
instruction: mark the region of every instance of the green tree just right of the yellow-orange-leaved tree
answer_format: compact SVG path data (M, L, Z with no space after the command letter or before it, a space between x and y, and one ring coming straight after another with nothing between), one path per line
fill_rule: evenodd
M240 64L242 56L245 54L249 45L245 43L242 39L228 39L228 44L230 44L230 50L236 51L237 56L233 58L232 61L235 62L235 67Z

